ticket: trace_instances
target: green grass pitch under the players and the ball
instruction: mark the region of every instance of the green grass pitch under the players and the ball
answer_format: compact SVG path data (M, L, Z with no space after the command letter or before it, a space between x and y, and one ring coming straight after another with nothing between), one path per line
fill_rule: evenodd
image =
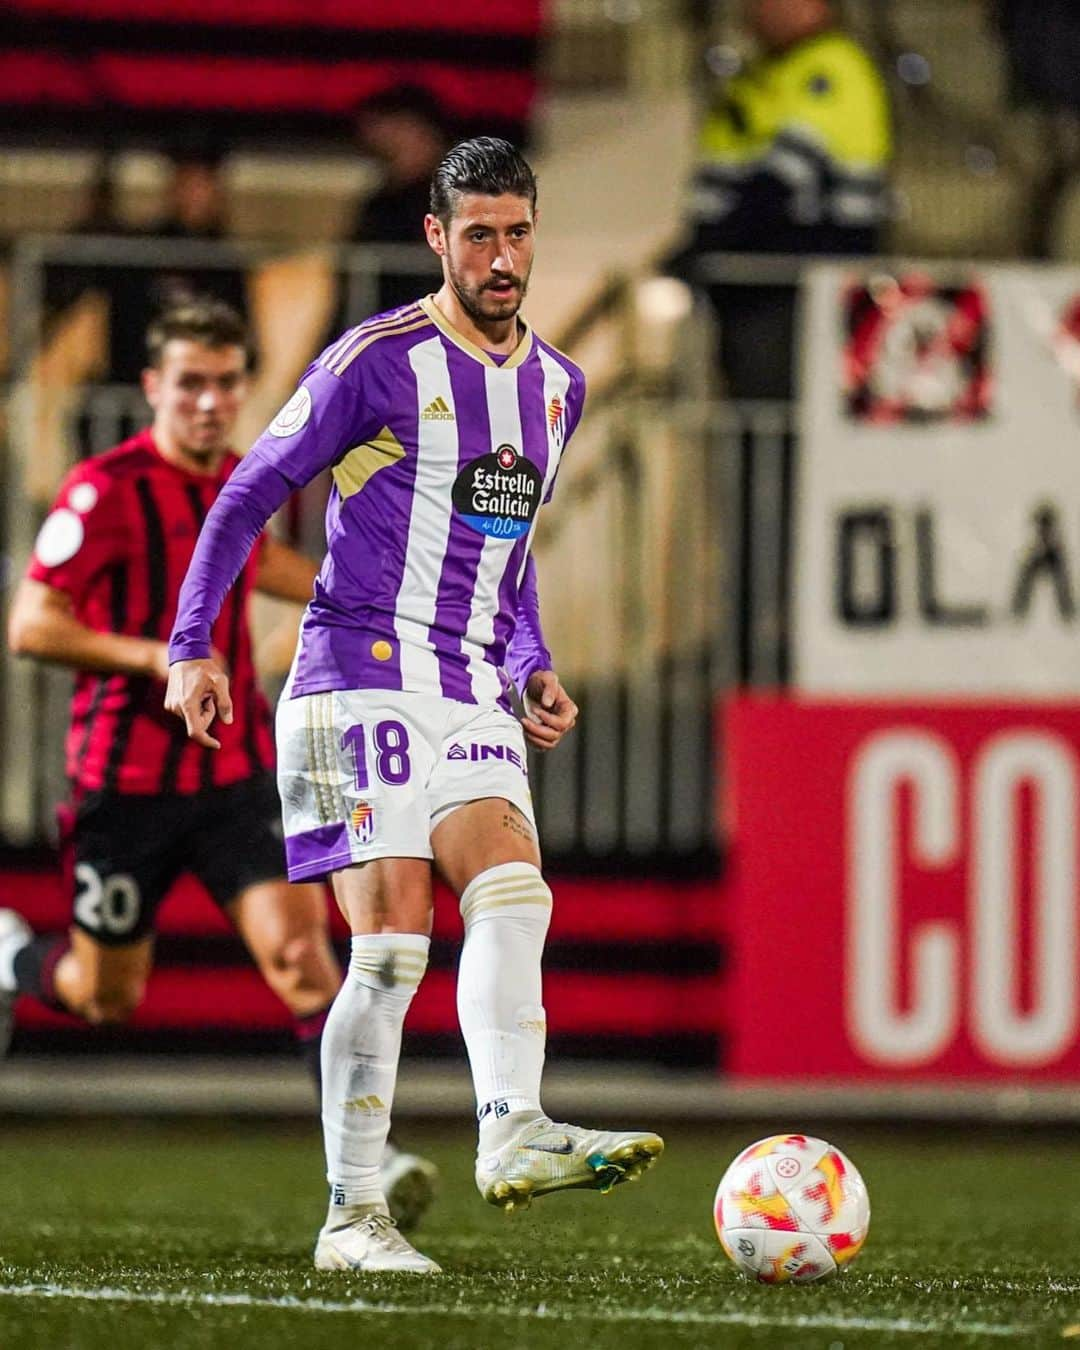
M1061 1345L1080 1323L1080 1149L1065 1134L824 1133L863 1170L869 1241L832 1284L726 1265L711 1196L732 1156L810 1122L664 1130L608 1196L506 1216L463 1125L404 1126L443 1172L417 1245L435 1278L316 1274L310 1126L0 1122L0 1350L861 1350ZM1080 1339L1077 1339L1080 1345Z

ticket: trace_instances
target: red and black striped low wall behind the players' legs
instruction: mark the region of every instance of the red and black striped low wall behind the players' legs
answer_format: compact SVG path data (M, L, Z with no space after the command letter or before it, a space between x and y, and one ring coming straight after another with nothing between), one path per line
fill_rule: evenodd
M544 1006L552 1037L582 1052L603 1042L625 1050L636 1041L663 1041L667 1053L717 1040L721 906L711 880L664 882L634 878L555 878L556 895L544 973ZM36 932L57 933L70 922L72 900L59 869L0 872L4 903ZM347 937L329 906L339 942ZM131 1027L136 1033L213 1029L258 1033L289 1029L292 1018L251 967L223 913L201 887L182 879L157 925L155 969ZM409 1046L424 1037L458 1034L455 981L462 921L456 900L439 887L428 973L409 1010ZM688 967L688 968L687 968ZM49 1011L35 999L18 1006L27 1041L50 1029L72 1035L65 1045L92 1048L99 1033ZM143 1042L144 1044L144 1042ZM49 1046L45 1046L46 1049ZM599 1053L599 1052L597 1052Z

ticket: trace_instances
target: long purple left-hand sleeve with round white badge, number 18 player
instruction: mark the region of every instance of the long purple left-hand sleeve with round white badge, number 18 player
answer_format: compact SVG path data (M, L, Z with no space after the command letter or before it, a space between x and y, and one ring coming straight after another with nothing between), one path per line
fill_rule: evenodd
M228 589L266 522L290 493L378 429L360 390L323 366L308 370L207 514L180 589L170 663L209 656Z

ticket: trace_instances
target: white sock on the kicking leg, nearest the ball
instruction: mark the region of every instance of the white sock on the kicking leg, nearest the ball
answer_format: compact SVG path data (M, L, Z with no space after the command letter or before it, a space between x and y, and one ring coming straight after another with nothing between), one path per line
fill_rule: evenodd
M543 1114L540 957L551 891L532 863L502 863L464 888L462 918L458 1021L473 1069L481 1148L490 1150Z

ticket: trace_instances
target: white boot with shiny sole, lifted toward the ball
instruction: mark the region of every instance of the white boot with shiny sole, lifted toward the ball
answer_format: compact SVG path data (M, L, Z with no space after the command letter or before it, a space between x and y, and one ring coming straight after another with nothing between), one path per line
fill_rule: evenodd
M477 1158L477 1188L501 1210L525 1208L552 1191L606 1193L637 1181L664 1152L659 1134L641 1130L585 1130L539 1119L525 1125L494 1153Z

